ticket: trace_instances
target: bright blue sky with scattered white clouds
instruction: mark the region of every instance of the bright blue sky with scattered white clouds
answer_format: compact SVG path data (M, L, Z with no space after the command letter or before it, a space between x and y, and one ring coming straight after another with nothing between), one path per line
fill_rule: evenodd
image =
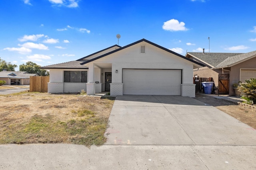
M0 58L41 66L142 38L181 55L256 50L255 0L1 0ZM16 68L18 70L18 67Z

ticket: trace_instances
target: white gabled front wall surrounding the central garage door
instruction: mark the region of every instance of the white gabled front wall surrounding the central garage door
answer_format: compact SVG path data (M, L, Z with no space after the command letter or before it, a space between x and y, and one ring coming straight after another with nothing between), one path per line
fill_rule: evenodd
M140 53L140 45L146 45L146 53ZM92 63L99 66L101 63L112 63L112 85L110 85L110 94L113 96L115 91L118 91L118 95L122 95L120 94L120 87L116 86L116 84L122 84L122 69L124 68L180 69L182 70L182 84L186 84L186 88L182 90L182 96L193 96L190 93L192 91L195 92L193 85L193 63L146 42L141 42L126 49L122 49L121 51L102 57ZM92 63L85 64L85 66L90 69ZM118 73L116 73L116 70L118 70Z

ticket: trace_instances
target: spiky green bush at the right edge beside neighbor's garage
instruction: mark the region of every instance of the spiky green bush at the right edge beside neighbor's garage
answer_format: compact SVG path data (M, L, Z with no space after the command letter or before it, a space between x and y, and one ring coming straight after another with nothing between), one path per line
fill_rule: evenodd
M245 80L238 86L238 91L241 92L241 98L247 101L247 104L256 104L256 78Z

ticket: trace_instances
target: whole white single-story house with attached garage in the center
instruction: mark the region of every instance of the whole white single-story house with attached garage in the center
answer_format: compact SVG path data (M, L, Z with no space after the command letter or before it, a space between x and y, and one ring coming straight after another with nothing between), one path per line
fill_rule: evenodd
M195 96L193 68L198 63L141 39L124 47L114 45L77 61L44 66L50 70L48 93L88 95L110 91L116 95Z

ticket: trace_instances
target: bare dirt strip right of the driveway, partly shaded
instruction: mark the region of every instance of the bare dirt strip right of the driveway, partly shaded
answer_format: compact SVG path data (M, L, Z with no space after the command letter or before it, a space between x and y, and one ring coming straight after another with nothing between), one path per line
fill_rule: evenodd
M216 107L217 109L224 111L232 117L246 123L250 127L256 129L256 108L249 105L241 106L232 102L228 102L222 99L216 99L211 96L205 96L198 94L196 100Z

